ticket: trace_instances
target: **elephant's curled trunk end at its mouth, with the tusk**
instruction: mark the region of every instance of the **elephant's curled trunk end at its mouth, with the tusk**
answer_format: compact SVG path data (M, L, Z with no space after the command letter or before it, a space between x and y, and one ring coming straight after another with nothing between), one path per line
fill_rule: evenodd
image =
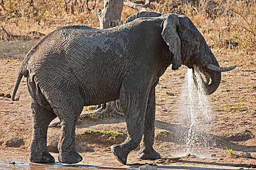
M230 71L234 68L236 68L236 65L227 68L219 67L218 64L217 66L210 64L206 67L194 65L192 68L194 83L198 87L197 79L202 80L201 86L204 89L205 95L210 95L217 90L220 84L221 72Z

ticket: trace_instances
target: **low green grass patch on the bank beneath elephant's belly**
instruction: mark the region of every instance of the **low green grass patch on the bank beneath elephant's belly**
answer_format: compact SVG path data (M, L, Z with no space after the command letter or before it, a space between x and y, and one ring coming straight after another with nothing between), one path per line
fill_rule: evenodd
M98 130L86 130L83 133L81 133L80 135L101 135L101 137L109 137L108 140L110 140L111 138L116 138L117 136L122 136L123 132L122 131L98 131Z

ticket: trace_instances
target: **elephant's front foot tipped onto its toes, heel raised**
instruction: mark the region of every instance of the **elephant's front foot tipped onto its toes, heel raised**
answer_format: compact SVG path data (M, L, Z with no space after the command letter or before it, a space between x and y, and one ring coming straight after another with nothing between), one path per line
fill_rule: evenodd
M126 164L127 156L130 152L125 152L125 147L120 145L112 145L111 146L111 152L115 155L117 160L122 163Z

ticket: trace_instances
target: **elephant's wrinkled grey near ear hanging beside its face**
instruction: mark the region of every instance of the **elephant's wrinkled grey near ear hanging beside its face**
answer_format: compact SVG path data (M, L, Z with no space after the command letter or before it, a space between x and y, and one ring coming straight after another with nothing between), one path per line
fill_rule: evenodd
M169 46L169 50L174 54L172 69L178 69L181 66L181 41L177 33L179 18L174 14L170 14L162 21L161 27L163 28L162 37Z

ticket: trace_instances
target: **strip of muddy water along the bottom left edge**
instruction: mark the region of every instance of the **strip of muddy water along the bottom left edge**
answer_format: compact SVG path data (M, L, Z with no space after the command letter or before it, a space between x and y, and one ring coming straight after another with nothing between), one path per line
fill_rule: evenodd
M59 162L34 164L20 161L0 160L0 170L127 170L126 168L99 167L90 165L70 165ZM130 168L129 168L130 169Z

